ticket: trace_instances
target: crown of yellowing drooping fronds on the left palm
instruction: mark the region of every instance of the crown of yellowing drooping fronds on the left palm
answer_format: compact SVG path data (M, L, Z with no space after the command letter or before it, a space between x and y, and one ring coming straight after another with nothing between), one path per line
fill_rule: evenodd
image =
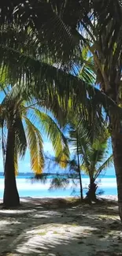
M42 173L44 168L43 133L50 138L57 157L68 158L68 144L61 132L57 121L46 113L37 102L24 100L24 95L16 94L16 98L9 98L16 90L16 86L9 86L1 103L2 150L6 154L6 130L15 132L14 165L17 172L17 159L24 157L27 147L30 151L31 169L36 174ZM5 88L6 91L6 88ZM17 91L16 91L17 93ZM26 97L25 97L26 98ZM41 130L41 132L40 132ZM5 137L4 137L5 136Z

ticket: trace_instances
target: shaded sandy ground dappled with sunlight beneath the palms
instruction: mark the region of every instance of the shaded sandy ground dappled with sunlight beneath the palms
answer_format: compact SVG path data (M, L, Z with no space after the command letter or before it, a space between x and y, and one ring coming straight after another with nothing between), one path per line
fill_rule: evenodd
M71 198L20 201L18 209L0 206L0 256L122 255L116 197L91 206Z

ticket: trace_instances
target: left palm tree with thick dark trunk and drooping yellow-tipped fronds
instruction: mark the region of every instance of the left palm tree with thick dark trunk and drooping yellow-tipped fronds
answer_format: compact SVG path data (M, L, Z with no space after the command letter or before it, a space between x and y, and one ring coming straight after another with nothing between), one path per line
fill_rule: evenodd
M10 89L10 87L9 87ZM6 89L4 89L6 93ZM13 92L16 97L13 98ZM4 206L18 206L16 173L18 157L23 158L26 149L30 150L31 169L35 174L43 172L43 132L49 136L57 157L68 158L68 144L52 114L46 113L37 102L27 101L24 95L17 95L18 87L11 88L3 99L1 108L2 150L5 155ZM7 139L3 138L7 130ZM40 130L42 132L40 132Z

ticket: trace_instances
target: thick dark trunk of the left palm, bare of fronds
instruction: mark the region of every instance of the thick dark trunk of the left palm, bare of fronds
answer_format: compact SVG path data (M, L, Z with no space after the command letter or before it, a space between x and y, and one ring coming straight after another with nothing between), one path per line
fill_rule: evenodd
M3 195L3 204L6 207L19 206L20 198L17 191L15 169L14 169L14 128L8 129L6 162L5 162L5 188Z

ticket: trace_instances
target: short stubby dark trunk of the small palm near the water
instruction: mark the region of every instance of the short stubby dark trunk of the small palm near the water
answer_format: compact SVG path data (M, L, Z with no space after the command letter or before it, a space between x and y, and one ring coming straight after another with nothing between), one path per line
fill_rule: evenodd
M96 201L96 190L98 188L97 184L94 183L94 178L90 178L89 190L87 191L87 198L90 201Z

